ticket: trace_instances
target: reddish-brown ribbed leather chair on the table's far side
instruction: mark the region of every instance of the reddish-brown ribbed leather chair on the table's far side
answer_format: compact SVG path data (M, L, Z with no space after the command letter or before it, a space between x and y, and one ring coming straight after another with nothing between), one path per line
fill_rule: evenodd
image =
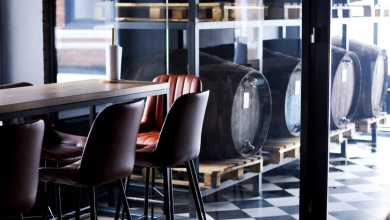
M153 82L169 82L169 106L184 94L202 90L199 78L190 75L161 75L154 78ZM147 98L137 138L137 148L148 146L157 141L164 122L163 103L162 95Z

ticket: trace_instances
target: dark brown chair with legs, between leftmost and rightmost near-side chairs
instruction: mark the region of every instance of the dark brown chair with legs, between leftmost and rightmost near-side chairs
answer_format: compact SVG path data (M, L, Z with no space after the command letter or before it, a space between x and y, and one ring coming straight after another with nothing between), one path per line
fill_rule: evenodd
M46 219L53 184L88 188L91 219L97 219L95 187L125 178L133 171L137 133L143 108L142 100L115 104L103 109L92 125L80 161L61 168L39 170L39 181L48 183L43 219ZM125 207L128 207L122 181L118 182L122 201ZM126 214L127 219L130 219L129 211Z

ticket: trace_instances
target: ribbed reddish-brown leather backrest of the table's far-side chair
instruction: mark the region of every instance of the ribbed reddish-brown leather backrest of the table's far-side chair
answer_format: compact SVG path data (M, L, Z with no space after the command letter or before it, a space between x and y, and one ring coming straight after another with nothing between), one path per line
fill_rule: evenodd
M202 84L198 77L191 75L161 75L153 79L153 82L169 82L169 105L187 93L200 92ZM163 108L164 98L160 96L148 97L146 100L142 121L145 122L145 130L160 130L164 122ZM143 129L143 128L141 128Z

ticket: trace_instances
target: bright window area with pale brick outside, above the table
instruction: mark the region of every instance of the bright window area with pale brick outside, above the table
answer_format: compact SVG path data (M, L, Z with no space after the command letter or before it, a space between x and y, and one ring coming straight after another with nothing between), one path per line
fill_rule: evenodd
M56 0L57 82L101 79L111 42L112 3Z

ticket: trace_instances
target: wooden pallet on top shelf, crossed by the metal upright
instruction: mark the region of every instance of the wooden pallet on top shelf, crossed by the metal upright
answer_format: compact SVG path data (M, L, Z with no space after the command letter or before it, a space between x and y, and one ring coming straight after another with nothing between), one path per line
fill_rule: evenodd
M199 3L199 21L227 21L228 11L225 10L225 5L231 3ZM171 11L168 18L169 21L188 21L188 3L116 3L118 10L126 11L128 9L146 9L149 13L145 13L142 18L139 17L117 17L117 21L165 21L166 8ZM210 11L210 13L207 13ZM124 12L121 12L122 14ZM127 13L124 13L127 14ZM211 16L208 16L211 14Z

